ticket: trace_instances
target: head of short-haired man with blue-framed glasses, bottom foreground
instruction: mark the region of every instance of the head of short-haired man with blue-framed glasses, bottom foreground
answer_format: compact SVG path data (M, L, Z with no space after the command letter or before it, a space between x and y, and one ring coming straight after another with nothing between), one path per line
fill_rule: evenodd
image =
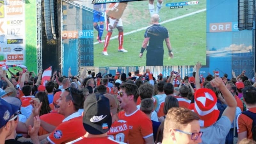
M197 144L202 142L201 137L205 133L200 131L199 119L195 112L186 108L172 107L169 109L164 120L162 144ZM214 141L209 140L209 143L214 143Z

